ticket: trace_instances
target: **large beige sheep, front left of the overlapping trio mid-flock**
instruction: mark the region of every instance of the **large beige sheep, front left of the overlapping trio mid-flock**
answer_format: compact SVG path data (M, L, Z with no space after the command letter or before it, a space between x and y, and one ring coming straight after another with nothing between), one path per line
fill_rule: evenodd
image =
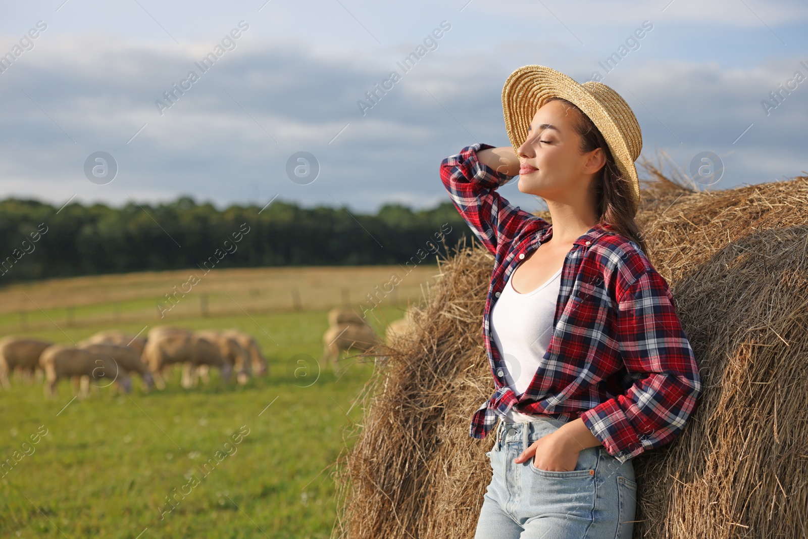
M196 335L191 330L158 326L149 331L146 346L143 349L143 361L154 376L154 384L159 390L166 387L162 371L172 364L183 364L184 388L193 385L191 374L200 365L209 365L221 369L221 377L229 381L232 365L221 355L216 343Z

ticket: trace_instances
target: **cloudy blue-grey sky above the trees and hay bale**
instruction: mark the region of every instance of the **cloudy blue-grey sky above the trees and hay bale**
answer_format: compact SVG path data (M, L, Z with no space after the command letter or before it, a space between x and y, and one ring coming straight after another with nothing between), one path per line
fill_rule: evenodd
M638 163L709 153L723 173L699 188L788 179L808 171L806 29L797 1L0 2L0 198L431 208L444 158L509 144L503 83L531 64L598 72Z

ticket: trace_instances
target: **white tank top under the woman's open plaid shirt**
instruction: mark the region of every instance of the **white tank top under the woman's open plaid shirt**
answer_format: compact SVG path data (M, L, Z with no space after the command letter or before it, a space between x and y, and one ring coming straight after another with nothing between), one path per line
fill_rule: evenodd
M559 268L545 284L522 294L511 284L515 270L491 309L491 333L506 365L505 383L517 397L528 389L553 336L561 271ZM512 408L505 417L508 423L535 419Z

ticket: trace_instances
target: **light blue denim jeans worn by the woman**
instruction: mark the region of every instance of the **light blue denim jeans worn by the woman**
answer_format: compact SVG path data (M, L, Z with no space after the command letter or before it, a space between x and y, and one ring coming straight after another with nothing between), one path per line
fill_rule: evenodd
M483 496L475 539L631 539L637 483L634 465L599 445L583 449L569 472L513 459L564 424L543 417L496 429L489 457L494 476Z

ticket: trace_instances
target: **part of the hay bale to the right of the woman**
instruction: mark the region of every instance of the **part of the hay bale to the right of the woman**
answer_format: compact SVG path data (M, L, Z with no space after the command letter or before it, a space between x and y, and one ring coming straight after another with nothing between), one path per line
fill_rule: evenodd
M808 177L683 196L648 219L705 393L638 459L637 537L808 528Z

